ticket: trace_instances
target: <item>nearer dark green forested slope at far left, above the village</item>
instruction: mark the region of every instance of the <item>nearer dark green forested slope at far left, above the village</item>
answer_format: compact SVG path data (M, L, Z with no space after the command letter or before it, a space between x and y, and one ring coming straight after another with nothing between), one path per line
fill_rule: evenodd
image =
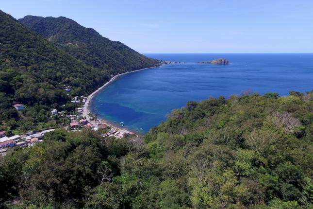
M2 11L0 44L0 91L24 104L53 104L63 85L90 92L109 78L107 71L85 65Z

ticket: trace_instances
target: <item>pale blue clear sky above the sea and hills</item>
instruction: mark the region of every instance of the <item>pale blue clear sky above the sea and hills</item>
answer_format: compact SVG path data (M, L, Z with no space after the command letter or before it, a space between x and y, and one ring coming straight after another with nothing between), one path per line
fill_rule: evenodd
M0 0L64 16L142 53L313 52L313 0Z

